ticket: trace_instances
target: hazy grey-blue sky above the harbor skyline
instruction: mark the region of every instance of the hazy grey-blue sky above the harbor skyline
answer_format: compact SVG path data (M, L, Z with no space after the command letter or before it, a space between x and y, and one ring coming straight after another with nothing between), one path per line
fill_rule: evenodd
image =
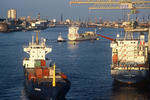
M0 17L7 17L7 10L16 9L17 16L36 17L38 13L42 18L60 20L61 15L64 19L72 20L87 20L98 19L99 17L105 20L118 20L126 15L123 10L88 10L85 4L69 4L70 0L0 0ZM150 10L141 10L137 16L147 17L150 15Z

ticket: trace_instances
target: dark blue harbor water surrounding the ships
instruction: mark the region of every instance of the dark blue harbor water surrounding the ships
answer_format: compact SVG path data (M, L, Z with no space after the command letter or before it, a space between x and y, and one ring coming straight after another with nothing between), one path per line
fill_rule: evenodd
M94 28L81 28L79 33ZM123 29L102 28L97 33L115 38ZM67 28L48 28L39 37L52 46L47 58L71 81L66 100L150 100L148 88L116 83L110 75L109 40L57 43L59 33L67 39ZM28 55L23 46L31 42L35 32L0 33L0 100L30 100L24 90L22 61Z

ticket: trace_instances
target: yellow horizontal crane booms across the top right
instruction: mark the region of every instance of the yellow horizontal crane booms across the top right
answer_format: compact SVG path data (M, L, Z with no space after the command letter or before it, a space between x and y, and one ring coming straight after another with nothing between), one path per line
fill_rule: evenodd
M70 4L93 4L88 9L149 9L150 0L71 0Z

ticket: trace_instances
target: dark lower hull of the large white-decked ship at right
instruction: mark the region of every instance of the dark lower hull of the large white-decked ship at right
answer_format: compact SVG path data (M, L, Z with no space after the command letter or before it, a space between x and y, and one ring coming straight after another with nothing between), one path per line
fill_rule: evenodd
M149 76L148 70L111 70L112 77L121 83L136 84L144 82Z

